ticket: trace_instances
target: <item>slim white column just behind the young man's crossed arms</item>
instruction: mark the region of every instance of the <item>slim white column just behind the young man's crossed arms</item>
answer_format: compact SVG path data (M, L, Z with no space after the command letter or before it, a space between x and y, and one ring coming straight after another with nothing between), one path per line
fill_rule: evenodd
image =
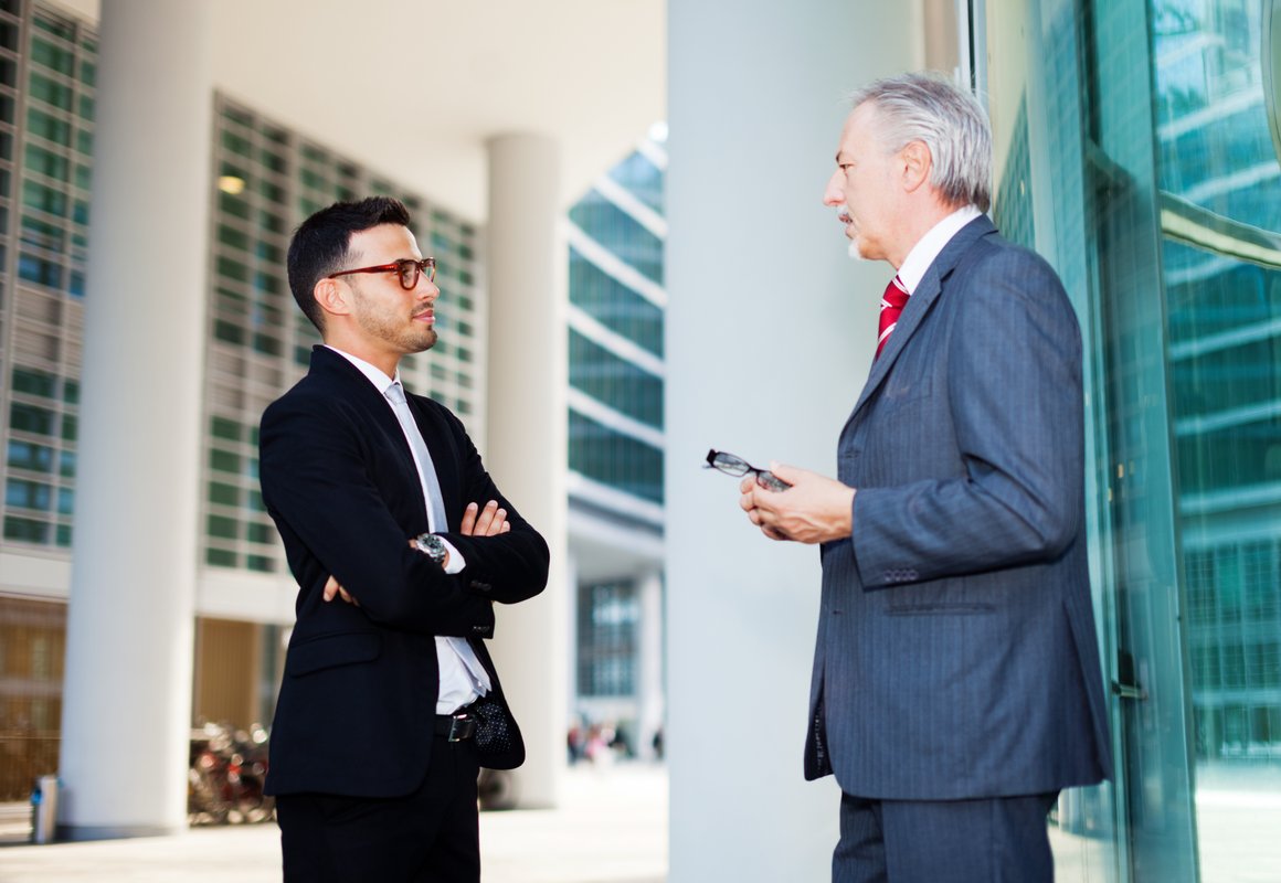
M498 612L493 655L528 759L521 806L553 806L565 769L567 411L566 252L560 147L519 133L491 138L489 415L485 465L552 550L547 590Z

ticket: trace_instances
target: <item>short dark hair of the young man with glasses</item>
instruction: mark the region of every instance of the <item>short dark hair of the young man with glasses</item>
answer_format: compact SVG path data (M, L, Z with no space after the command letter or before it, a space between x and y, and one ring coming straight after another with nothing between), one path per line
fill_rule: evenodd
M347 269L351 234L379 224L409 227L409 209L389 196L370 196L359 202L334 202L298 225L290 241L290 290L311 324L324 334L324 314L316 303L316 283L330 273Z

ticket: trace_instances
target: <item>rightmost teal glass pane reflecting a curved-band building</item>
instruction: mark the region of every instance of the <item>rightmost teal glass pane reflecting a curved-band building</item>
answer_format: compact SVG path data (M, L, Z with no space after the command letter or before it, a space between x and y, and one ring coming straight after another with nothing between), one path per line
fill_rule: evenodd
M1162 197L1195 206L1209 232L1190 241L1163 214L1207 880L1281 868L1281 252L1234 242L1281 233L1272 5L1153 4Z

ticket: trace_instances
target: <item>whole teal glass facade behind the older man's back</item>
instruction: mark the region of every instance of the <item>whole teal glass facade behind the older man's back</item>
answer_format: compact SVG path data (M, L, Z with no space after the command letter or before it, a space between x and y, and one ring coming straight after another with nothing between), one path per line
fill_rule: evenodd
M1273 6L958 5L994 215L1054 264L1086 340L1117 778L1061 800L1061 879L1281 874Z

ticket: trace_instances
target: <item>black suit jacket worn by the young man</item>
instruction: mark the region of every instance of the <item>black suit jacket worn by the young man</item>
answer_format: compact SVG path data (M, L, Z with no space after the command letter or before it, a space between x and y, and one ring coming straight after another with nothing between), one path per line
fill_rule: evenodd
M466 561L457 575L409 546L428 530L421 482L391 406L351 362L316 347L309 374L263 415L263 499L298 582L269 793L411 792L430 763L436 636L466 637L502 700L482 640L493 635L493 603L532 598L547 584L547 544L494 486L462 424L432 399L407 398L450 521L437 532ZM491 499L507 511L510 532L456 532L468 503ZM322 600L330 573L359 607ZM484 763L523 760L518 731L511 752Z

